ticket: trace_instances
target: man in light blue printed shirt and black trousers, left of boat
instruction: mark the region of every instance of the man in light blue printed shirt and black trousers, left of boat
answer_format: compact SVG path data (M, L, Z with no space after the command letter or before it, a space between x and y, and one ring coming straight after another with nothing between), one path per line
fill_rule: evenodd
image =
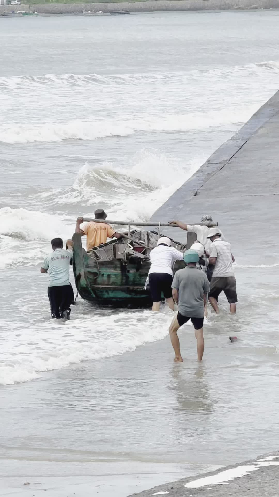
M47 255L41 267L41 273L49 271L50 280L48 296L52 319L70 319L70 304L73 291L70 284L70 259L73 254L72 241L67 242L68 249L63 249L63 240L51 241L53 251Z

